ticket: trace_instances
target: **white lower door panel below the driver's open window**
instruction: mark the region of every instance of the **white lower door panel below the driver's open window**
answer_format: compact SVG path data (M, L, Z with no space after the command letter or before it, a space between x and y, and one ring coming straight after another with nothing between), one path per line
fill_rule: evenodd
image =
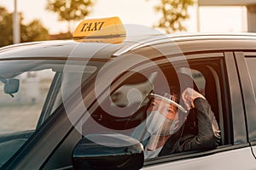
M254 147L256 150L256 147ZM160 163L154 166L144 167L143 169L160 169L160 170L185 170L185 169L232 169L232 170L248 170L256 169L256 161L250 147L239 150L224 151L210 156L201 156L181 161L171 161L169 163Z

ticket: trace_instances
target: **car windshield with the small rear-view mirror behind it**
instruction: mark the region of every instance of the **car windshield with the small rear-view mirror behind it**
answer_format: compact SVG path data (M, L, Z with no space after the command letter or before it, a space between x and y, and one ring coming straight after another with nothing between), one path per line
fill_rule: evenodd
M99 62L19 59L0 61L0 167L19 150L65 95L89 81Z

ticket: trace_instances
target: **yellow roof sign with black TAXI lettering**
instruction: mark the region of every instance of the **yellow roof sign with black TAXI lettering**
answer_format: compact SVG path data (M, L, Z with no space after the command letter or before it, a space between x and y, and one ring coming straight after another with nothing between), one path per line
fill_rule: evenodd
M125 39L125 27L119 17L82 20L73 33L79 42L118 43Z

